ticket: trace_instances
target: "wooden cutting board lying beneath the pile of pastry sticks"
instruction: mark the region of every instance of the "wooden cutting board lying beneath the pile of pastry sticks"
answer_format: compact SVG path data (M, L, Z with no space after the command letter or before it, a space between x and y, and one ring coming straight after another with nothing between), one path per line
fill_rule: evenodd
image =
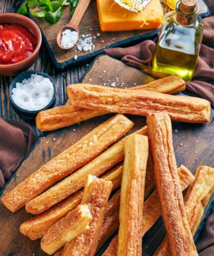
M118 80L119 87L121 87L122 83L123 87L131 87L148 83L153 79L135 68L131 68L109 56L102 55L93 62L92 66L84 75L82 82L98 85L105 83L106 86L108 86L116 80ZM26 156L16 174L11 178L11 181L2 192L2 196L44 163L57 156L112 115L113 114L96 117L64 129L43 133L29 155ZM128 118L135 122L135 127L132 131L140 129L140 127L146 124L145 117L128 115ZM172 125L177 165L180 166L183 164L192 172L195 172L198 165L211 166L213 162L211 159L213 143L211 142L213 141L214 124L210 121L205 124L172 122ZM40 239L32 241L19 232L20 224L30 217L32 217L32 215L26 213L24 209L16 213L11 213L3 206L2 202L0 202L1 256L47 255L40 249ZM159 220L152 228L152 231L143 239L143 255L152 255L152 252L154 252L158 244L162 241L164 232L163 222ZM107 244L108 243L106 243L106 245ZM101 252L99 252L98 255L101 255Z

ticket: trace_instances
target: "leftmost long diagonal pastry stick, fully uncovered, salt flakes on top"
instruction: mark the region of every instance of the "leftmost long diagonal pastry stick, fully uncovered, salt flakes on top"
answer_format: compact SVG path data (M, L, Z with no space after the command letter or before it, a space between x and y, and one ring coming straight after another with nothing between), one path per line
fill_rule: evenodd
M123 115L116 115L103 122L7 193L2 198L3 204L11 212L19 210L52 184L93 160L132 126L133 122Z

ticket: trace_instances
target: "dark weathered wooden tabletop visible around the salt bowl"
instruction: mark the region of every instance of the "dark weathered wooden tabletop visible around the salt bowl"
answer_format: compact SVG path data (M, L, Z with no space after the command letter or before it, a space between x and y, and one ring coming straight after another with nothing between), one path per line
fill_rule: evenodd
M20 1L0 1L0 13L15 12L18 4L20 4ZM77 83L87 70L87 66L85 64L82 66L73 67L66 71L56 71L55 68L53 68L53 65L50 61L47 49L45 48L44 44L42 44L39 56L34 65L30 68L30 70L37 70L47 73L51 76L53 81L55 81L57 85L57 98L55 106L58 106L62 105L67 97L67 85ZM17 120L27 122L33 127L36 134L40 136L41 132L37 129L35 121L27 121L26 119L21 118L18 114L16 114L16 112L11 106L8 89L12 80L12 77L0 76L0 117L4 118L5 120Z

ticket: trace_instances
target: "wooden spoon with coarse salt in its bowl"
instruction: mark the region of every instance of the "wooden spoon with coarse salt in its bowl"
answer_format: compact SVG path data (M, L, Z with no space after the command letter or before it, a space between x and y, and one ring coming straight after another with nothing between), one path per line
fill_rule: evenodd
M84 13L86 12L89 4L90 4L91 0L79 0L77 6L76 6L76 10L71 18L71 20L68 22L67 25L65 25L57 34L57 44L59 45L59 47L61 49L67 50L72 48L79 39L79 23L81 22ZM71 47L63 47L61 45L61 39L62 39L62 33L65 30L71 30L71 31L76 31L78 33L78 37L76 42L71 46Z

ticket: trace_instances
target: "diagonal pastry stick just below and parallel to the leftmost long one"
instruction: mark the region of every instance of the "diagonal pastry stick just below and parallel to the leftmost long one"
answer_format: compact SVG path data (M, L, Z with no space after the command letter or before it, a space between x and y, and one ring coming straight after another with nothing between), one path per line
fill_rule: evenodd
M136 133L146 134L147 127L143 127ZM65 178L65 180L62 182L51 187L40 196L37 196L26 203L26 212L37 215L47 211L58 202L83 188L88 174L100 176L105 171L120 163L124 159L124 141L125 138L114 144L109 149L105 150L93 161Z

